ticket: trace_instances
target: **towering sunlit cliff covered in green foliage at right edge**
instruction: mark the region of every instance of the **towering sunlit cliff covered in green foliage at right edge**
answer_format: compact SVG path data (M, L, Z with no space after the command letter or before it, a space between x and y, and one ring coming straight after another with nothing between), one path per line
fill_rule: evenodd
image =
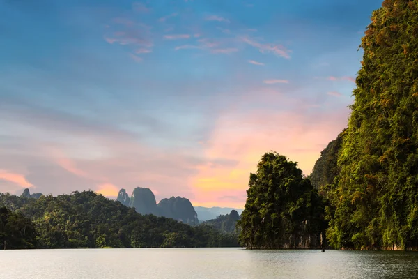
M417 248L418 1L385 0L361 47L327 237L334 248Z

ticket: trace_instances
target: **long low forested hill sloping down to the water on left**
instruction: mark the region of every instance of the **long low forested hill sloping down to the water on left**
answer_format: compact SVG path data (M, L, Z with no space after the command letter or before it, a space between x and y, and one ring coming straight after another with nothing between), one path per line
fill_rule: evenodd
M0 206L15 211L13 216L25 216L22 220L27 220L29 225L32 223L27 218L31 218L37 235L36 243L28 242L36 248L238 246L234 236L210 226L191 227L170 218L143 216L133 208L91 191L38 199L0 194ZM22 232L22 226L18 229ZM29 247L15 239L8 241L9 248Z

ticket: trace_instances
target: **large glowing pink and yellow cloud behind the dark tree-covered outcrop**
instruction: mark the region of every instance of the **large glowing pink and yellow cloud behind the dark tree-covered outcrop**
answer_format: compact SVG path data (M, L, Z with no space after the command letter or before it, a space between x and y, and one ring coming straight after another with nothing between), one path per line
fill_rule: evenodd
M245 97L218 116L203 145L207 163L198 165L198 174L189 182L194 188L193 204L219 206L225 200L225 204L242 207L249 173L256 171L258 160L270 150L298 162L304 174L309 174L320 151L346 126L349 113L344 107L310 112L309 105L299 108L297 98L271 89L249 89ZM249 109L249 102L255 107L264 105L263 109ZM286 109L266 109L266 103L281 103ZM236 164L217 167L211 163L220 158Z

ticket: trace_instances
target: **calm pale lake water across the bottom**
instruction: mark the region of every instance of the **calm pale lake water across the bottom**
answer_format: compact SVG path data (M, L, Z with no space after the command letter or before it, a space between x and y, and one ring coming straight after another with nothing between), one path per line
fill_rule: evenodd
M86 249L0 251L0 278L418 278L418 252Z

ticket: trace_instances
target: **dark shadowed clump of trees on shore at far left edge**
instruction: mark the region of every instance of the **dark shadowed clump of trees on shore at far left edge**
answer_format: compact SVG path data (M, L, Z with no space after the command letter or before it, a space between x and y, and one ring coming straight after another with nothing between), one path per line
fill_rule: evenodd
M35 248L35 225L22 214L0 207L0 246L3 249Z

